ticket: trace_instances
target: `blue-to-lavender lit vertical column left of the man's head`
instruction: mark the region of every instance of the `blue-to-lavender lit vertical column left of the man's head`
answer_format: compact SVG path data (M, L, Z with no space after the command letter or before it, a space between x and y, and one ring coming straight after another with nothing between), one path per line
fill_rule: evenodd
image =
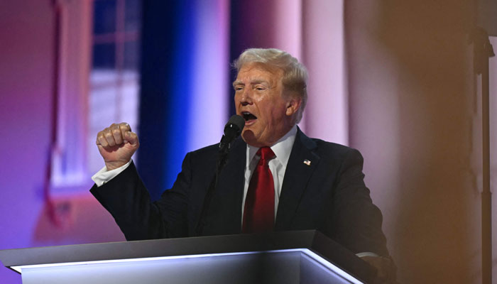
M229 117L229 1L200 1L196 13L187 151L219 143Z

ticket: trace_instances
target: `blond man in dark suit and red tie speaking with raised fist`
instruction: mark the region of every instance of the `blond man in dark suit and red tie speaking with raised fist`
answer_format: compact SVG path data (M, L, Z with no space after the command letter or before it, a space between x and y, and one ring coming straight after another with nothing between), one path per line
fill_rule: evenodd
M234 63L236 114L245 120L205 216L202 234L318 229L391 278L381 212L364 185L361 154L305 136L296 124L307 102L307 71L288 53L249 49ZM126 239L193 236L218 146L188 153L173 188L150 202L131 161L138 137L128 124L97 135L105 168L92 194ZM382 257L383 256L383 257Z

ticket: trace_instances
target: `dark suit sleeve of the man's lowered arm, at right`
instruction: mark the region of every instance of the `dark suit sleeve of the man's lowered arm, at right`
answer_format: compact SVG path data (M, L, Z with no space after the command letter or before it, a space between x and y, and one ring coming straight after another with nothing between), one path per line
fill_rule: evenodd
M354 253L388 256L386 238L381 231L383 217L371 201L362 166L361 153L349 149L339 170L333 198L336 239Z

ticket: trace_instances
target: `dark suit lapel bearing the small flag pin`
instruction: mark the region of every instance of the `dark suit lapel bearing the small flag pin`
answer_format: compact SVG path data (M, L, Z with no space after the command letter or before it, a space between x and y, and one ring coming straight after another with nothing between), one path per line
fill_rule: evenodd
M320 162L320 157L313 151L315 148L316 143L298 129L281 187L275 222L276 231L290 229L307 182Z

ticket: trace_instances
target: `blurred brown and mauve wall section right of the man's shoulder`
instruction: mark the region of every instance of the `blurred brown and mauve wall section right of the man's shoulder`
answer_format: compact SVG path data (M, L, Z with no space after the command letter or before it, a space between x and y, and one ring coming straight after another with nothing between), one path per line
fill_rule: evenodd
M480 283L481 121L468 1L346 1L351 146L401 283Z

